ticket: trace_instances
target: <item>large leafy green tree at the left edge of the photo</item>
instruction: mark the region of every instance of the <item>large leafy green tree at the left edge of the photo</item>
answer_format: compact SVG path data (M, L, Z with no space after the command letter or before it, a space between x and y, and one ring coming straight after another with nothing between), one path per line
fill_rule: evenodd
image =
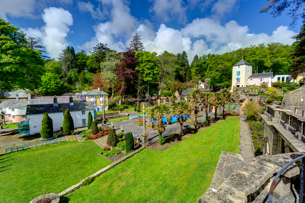
M44 60L32 50L20 28L0 18L0 89L37 89L43 75Z

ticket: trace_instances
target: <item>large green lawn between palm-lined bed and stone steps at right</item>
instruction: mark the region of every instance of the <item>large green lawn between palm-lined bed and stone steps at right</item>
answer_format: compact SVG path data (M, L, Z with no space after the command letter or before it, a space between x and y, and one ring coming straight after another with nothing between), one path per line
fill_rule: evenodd
M60 202L194 203L221 151L239 153L239 119L228 118L163 151L144 149Z

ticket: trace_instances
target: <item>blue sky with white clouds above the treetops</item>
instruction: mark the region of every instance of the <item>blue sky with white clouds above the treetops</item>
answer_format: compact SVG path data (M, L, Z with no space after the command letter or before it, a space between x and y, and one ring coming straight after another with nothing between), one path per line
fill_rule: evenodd
M292 44L299 32L285 11L259 13L267 0L0 0L0 18L36 37L51 58L73 46L89 55L98 43L129 47L137 31L145 51L223 54L259 43Z

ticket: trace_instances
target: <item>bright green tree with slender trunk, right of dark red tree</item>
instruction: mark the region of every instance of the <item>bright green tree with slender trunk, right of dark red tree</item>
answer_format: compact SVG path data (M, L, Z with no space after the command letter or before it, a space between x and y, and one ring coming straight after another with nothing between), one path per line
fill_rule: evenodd
M143 80L147 82L147 93L149 94L149 83L155 82L159 74L159 68L156 65L156 52L137 51L135 57L138 58L136 71L143 76ZM150 102L150 96L148 98Z

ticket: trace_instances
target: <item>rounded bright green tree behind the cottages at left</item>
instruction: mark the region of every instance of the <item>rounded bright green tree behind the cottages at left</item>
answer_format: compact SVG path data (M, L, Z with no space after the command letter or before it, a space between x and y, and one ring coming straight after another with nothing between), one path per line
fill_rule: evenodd
M41 77L41 86L39 91L44 95L51 96L61 93L63 82L54 73L46 72Z

